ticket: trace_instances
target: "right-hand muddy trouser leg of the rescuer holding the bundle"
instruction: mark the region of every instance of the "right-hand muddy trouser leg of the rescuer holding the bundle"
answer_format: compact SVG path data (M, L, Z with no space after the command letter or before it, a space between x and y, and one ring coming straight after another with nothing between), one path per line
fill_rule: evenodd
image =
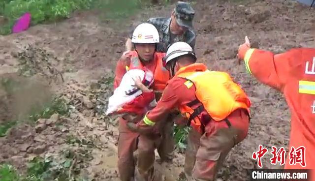
M140 135L138 138L138 158L136 169L136 181L159 181L155 174L155 149L159 144L159 135L147 136Z

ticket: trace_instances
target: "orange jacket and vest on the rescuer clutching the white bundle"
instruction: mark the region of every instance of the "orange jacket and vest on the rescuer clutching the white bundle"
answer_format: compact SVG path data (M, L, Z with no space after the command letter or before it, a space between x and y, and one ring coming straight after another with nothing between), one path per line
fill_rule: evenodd
M115 78L114 78L114 89L116 89L127 70L133 68L143 68L144 66L150 71L154 72L154 83L153 89L155 91L163 91L167 81L170 79L169 72L163 67L162 58L165 57L165 53L156 52L154 54L154 59L148 65L143 65L139 60L136 51L130 52L131 58L128 62L118 60Z

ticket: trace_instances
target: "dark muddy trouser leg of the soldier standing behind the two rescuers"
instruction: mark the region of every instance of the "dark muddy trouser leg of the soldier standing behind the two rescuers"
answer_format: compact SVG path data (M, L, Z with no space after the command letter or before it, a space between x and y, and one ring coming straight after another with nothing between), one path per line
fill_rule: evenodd
M169 114L161 124L161 143L158 145L158 154L161 161L172 161L174 157L174 120L173 115Z

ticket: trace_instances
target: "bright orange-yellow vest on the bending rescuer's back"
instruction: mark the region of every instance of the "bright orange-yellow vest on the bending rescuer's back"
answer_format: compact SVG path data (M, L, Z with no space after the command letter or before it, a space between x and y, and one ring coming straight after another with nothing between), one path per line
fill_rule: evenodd
M186 79L187 88L195 86L196 100L181 105L179 110L189 119L190 125L202 132L201 113L206 111L214 121L225 120L236 109L250 114L251 101L239 85L225 72L210 71L201 63L181 68L175 75ZM209 118L209 121L210 119Z

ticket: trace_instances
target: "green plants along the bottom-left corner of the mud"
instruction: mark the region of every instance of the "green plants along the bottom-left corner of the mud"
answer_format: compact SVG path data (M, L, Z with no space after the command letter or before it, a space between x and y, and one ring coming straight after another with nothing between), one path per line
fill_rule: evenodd
M29 163L26 174L22 175L9 164L0 164L0 181L85 181L79 176L78 162L91 159L91 152L65 150L62 158L34 157Z

